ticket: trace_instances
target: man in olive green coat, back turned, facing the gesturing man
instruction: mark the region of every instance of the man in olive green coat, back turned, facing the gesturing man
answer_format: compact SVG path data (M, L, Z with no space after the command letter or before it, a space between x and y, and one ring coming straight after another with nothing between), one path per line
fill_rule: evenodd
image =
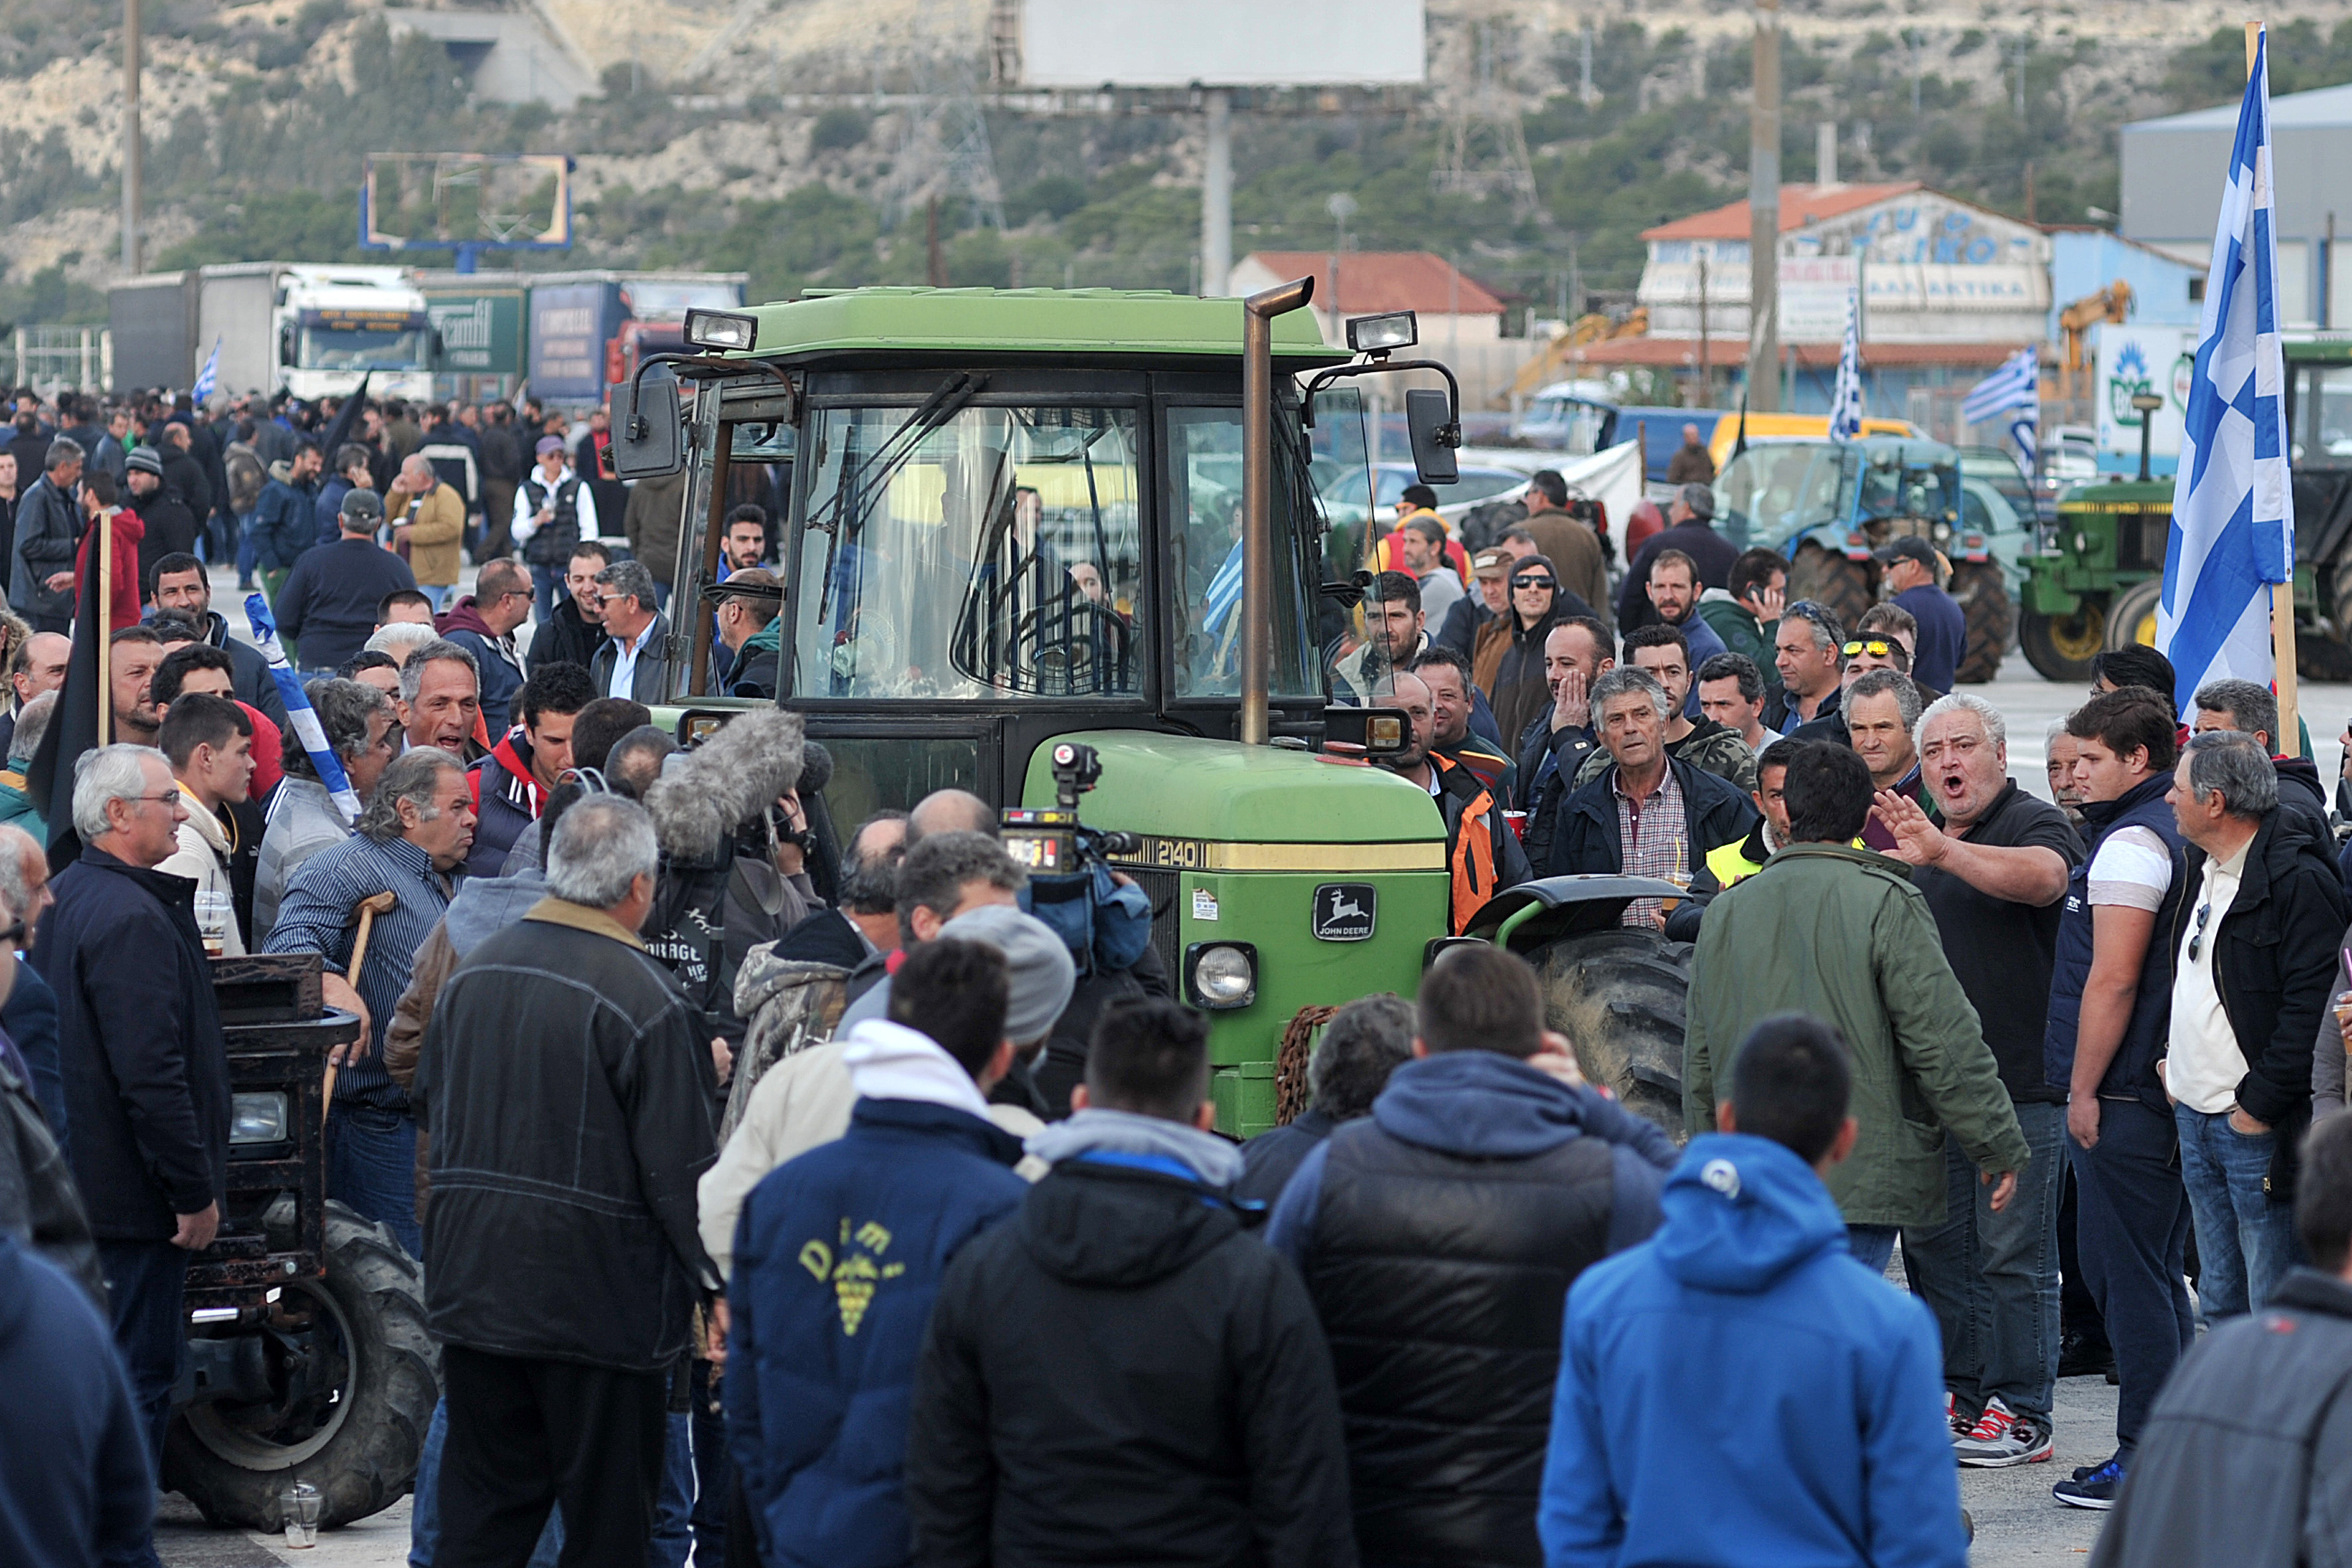
M1790 844L1708 905L1691 961L1682 1119L1715 1131L1731 1051L1773 1013L1811 1013L1853 1051L1853 1157L1830 1173L1853 1255L1879 1269L1903 1225L1940 1225L1945 1131L2002 1208L2027 1159L1976 1009L1898 860L1851 849L1870 769L1844 745L1797 750L1783 783Z

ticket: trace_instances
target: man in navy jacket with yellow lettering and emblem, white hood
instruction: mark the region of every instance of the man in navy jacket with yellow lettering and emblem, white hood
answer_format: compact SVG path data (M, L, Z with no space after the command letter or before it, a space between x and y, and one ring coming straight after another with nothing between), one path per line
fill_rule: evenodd
M957 1248L1028 1194L988 1119L1011 1072L1004 957L941 938L847 1041L849 1131L771 1171L736 1220L727 1446L767 1568L903 1563L915 1361Z

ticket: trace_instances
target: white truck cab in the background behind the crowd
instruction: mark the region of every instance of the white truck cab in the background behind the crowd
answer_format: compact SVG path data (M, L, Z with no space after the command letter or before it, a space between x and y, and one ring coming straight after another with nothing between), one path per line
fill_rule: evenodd
M440 334L423 289L395 266L289 266L278 277L278 386L301 400L433 397Z

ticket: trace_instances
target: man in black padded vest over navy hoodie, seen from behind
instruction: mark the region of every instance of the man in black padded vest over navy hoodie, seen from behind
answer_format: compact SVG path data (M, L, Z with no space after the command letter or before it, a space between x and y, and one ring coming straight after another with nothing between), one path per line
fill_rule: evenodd
M1534 1566L1562 1302L1658 1225L1675 1150L1552 1077L1569 1046L1501 947L1437 959L1418 1023L1421 1060L1308 1154L1265 1239L1331 1340L1364 1563Z

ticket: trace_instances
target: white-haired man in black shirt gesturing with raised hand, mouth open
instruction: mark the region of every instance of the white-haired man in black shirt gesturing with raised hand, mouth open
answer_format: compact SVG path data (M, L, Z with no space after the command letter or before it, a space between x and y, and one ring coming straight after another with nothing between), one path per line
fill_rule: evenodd
M1915 733L1922 795L1943 820L1884 788L1875 811L1893 837L1889 853L1910 863L1936 917L2032 1159L2016 1197L1994 1211L1976 1164L1945 1140L1945 1218L1903 1229L1903 1267L1943 1328L1955 1453L1962 1465L2002 1469L2051 1455L2065 1091L2049 1081L2042 1037L2065 882L2084 849L2058 806L2009 778L1999 708L1957 691L1922 712Z

